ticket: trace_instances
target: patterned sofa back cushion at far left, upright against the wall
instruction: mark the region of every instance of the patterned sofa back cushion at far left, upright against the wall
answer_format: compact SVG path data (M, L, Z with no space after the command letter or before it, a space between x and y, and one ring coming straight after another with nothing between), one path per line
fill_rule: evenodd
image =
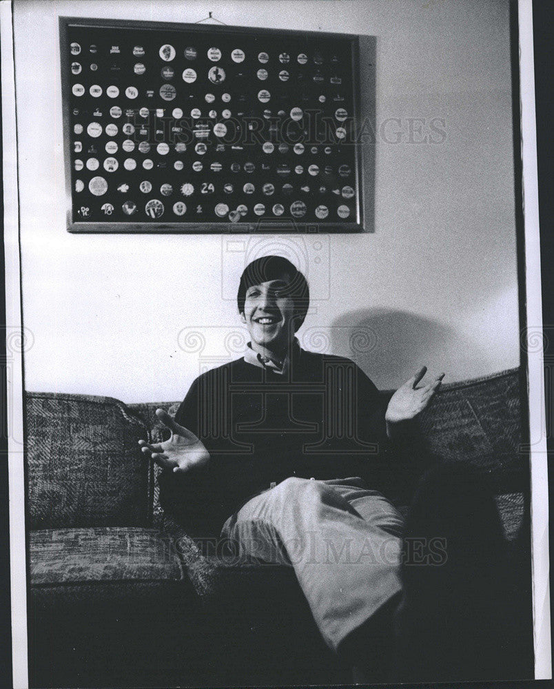
M28 528L150 526L146 424L118 400L25 395Z

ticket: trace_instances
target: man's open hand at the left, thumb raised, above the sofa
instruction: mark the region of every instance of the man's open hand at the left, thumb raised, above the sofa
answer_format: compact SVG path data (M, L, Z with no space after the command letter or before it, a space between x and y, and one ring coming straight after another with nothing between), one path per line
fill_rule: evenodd
M145 455L163 467L173 471L189 471L189 469L205 466L209 461L209 452L203 443L184 426L180 426L163 409L156 409L156 416L171 431L171 437L164 442L148 444L139 440L139 445Z

